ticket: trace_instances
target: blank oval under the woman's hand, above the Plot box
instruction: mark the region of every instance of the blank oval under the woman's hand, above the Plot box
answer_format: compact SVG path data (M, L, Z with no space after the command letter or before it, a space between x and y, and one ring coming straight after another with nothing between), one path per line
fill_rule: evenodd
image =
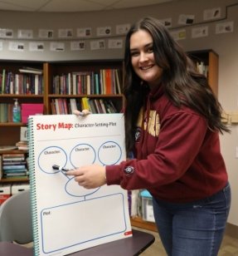
M70 194L70 195L76 196L76 197L80 197L80 196L94 194L97 190L100 189L100 187L96 188L96 189L87 190L84 187L78 185L78 183L75 181L75 179L73 177L66 183L65 189L66 189L67 194Z

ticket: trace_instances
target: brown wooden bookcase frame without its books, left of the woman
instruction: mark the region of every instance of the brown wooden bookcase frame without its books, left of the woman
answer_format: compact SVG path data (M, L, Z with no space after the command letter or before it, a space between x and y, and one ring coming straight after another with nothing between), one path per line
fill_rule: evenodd
M23 67L31 67L42 70L43 76L43 91L41 94L33 93L6 93L6 85L4 90L2 89L2 76L3 71L5 72L4 79L7 79L8 73L20 74L19 69ZM78 101L82 97L88 98L99 98L99 99L109 99L113 101L116 110L119 112L124 106L124 97L120 94L100 94L100 95L62 95L53 93L53 79L54 76L61 74L68 74L71 72L86 72L94 71L95 73L100 73L101 69L117 69L120 72L120 75L123 76L123 61L122 60L108 60L108 61L85 61L85 62L24 62L24 61L0 61L0 102L13 104L13 99L17 98L19 104L22 103L43 103L44 105L44 114L51 115L51 101L56 98L76 98ZM123 79L121 77L120 81ZM121 88L122 88L121 84ZM14 91L15 92L15 91ZM2 115L2 114L1 114ZM14 123L12 121L0 122L0 146L4 145L16 145L20 140L20 129L21 126L27 126L26 123L18 122ZM0 155L9 154L9 153L20 153L22 150L1 150ZM27 154L27 151L23 152ZM0 185L7 182L19 182L26 181L26 179L2 179L0 180Z

